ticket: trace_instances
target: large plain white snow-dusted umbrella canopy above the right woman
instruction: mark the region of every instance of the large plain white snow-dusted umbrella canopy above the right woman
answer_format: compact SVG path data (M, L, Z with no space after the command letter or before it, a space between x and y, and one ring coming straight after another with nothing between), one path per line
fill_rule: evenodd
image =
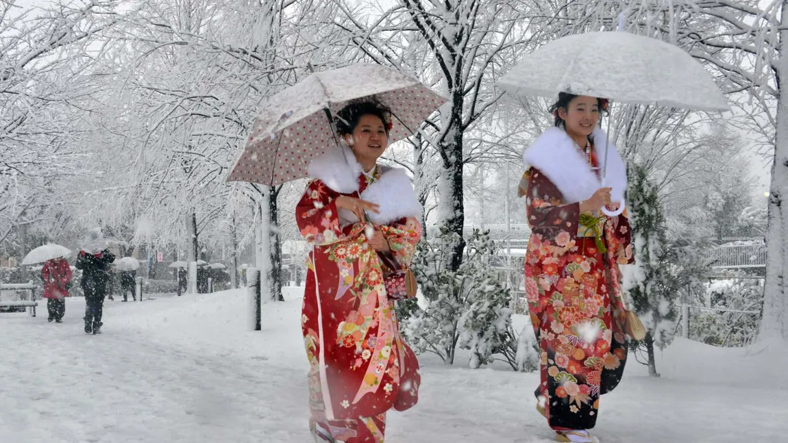
M628 32L567 35L528 54L498 85L516 95L559 92L701 111L730 109L708 72L684 50Z

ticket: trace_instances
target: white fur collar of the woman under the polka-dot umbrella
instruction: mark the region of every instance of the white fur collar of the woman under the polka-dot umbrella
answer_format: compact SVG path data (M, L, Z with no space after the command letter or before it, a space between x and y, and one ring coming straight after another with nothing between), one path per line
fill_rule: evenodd
M355 155L346 146L348 161L339 150L327 150L315 158L309 166L309 175L319 179L325 186L340 194L354 194L359 190L359 175L362 173L361 164L355 160ZM422 205L418 203L413 190L411 179L402 168L381 168L380 178L370 186L366 186L361 193L362 200L372 201L380 205L380 213L369 213L370 220L377 224L388 224L403 217L421 217ZM342 227L359 221L352 212L340 209L340 224Z

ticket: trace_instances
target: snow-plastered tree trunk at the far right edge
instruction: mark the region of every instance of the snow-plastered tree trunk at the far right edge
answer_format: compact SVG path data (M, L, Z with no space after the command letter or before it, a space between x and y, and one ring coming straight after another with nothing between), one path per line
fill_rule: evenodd
M788 0L782 2L781 23L788 24ZM769 186L769 216L766 235L766 286L764 288L764 317L760 323L759 340L788 341L788 301L785 279L788 275L788 211L782 203L788 196L788 95L782 94L783 76L788 77L788 28L779 35L777 87L777 127L775 157L771 162Z

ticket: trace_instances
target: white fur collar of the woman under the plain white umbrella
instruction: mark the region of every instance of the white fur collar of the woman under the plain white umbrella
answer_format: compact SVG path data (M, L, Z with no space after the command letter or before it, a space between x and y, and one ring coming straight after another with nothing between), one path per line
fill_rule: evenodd
M604 146L608 136L597 127L591 137L600 168L604 168ZM585 200L602 186L574 140L559 127L551 127L542 132L526 152L522 153L522 160L526 169L533 166L547 175L563 194L565 203ZM624 198L626 166L612 143L608 151L608 179L605 184L613 188L612 201Z

